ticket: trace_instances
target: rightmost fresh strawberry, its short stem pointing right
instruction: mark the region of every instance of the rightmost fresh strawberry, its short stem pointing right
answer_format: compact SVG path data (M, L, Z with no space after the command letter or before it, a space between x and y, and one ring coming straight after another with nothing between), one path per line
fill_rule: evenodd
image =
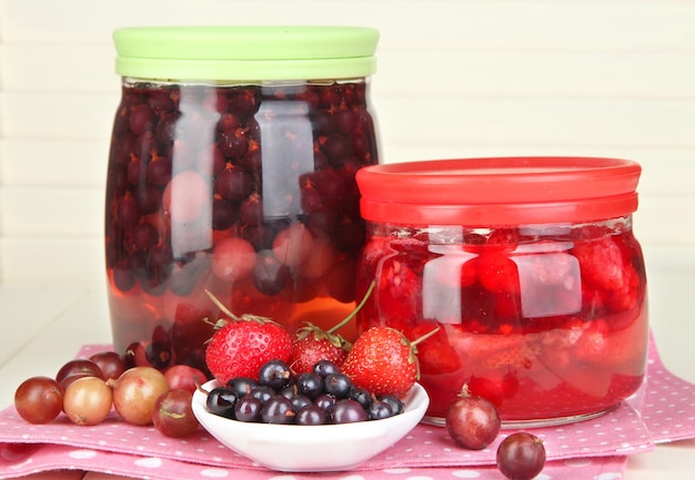
M372 327L355 340L342 371L357 387L376 396L403 398L420 378L415 346L437 330L410 341L394 328Z

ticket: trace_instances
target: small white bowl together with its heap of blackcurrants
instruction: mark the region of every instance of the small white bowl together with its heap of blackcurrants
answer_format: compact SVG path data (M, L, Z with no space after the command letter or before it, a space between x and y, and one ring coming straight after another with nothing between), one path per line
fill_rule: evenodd
M283 368L276 367L274 377L265 375L275 385L263 381L262 369L259 381L210 380L192 400L193 413L210 435L272 470L354 469L405 437L430 405L419 384L403 399L375 397L340 372L286 376Z

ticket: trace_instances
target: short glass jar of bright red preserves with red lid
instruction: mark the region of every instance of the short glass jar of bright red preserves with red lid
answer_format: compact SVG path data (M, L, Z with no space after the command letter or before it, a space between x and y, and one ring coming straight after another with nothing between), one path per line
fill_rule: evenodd
M633 395L647 353L644 259L632 229L637 163L493 157L357 173L367 243L364 330L420 345L427 420L462 386L505 425L592 418Z

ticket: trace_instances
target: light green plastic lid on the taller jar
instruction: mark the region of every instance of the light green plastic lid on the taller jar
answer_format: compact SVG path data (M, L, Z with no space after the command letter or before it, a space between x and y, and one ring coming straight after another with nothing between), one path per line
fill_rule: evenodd
M113 32L121 76L325 80L374 73L379 32L362 27L139 27Z

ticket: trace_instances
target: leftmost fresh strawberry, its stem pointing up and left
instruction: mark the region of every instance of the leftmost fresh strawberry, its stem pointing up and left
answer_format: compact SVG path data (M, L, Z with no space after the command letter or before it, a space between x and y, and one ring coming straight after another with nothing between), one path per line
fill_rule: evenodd
M269 318L253 315L238 317L209 294L231 321L221 319L205 349L205 364L222 384L234 377L259 378L261 366L270 360L289 361L292 336Z

